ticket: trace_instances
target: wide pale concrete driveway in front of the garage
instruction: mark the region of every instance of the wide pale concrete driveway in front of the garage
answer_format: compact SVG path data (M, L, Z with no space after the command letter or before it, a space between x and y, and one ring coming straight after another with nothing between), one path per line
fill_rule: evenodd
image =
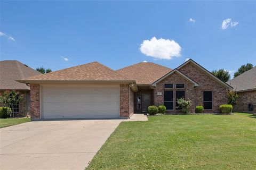
M84 169L122 121L38 121L2 128L0 169Z

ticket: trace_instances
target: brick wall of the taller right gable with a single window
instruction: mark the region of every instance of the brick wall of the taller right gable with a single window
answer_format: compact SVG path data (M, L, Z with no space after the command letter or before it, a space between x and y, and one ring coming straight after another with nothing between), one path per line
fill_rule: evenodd
M211 111L204 111L205 113L218 113L219 106L221 104L227 104L227 87L214 80L195 64L188 63L181 67L179 71L199 84L199 86L195 88L195 106L203 106L203 91L212 91L213 109Z

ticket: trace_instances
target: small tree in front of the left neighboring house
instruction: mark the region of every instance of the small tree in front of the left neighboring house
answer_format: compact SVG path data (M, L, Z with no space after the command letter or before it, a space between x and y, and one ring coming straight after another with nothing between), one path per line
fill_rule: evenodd
M19 101L22 99L22 96L19 95L18 91L14 90L5 90L3 95L0 96L0 101L8 105L12 108L12 115L14 117L14 105L18 104ZM10 115L11 116L11 115Z

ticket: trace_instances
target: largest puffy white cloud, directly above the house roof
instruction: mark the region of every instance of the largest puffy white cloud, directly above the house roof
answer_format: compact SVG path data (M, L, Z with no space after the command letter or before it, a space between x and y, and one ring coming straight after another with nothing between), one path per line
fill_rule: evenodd
M140 52L157 59L170 60L181 56L181 47L174 40L153 37L150 40L143 40Z

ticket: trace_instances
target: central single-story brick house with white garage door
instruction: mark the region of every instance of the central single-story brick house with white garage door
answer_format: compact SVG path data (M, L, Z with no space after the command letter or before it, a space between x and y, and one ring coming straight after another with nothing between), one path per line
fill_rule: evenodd
M98 62L78 65L18 80L30 84L31 117L119 118L165 105L167 113L180 113L176 100L185 97L205 112L219 112L233 88L193 60L177 69L138 63L114 71Z

